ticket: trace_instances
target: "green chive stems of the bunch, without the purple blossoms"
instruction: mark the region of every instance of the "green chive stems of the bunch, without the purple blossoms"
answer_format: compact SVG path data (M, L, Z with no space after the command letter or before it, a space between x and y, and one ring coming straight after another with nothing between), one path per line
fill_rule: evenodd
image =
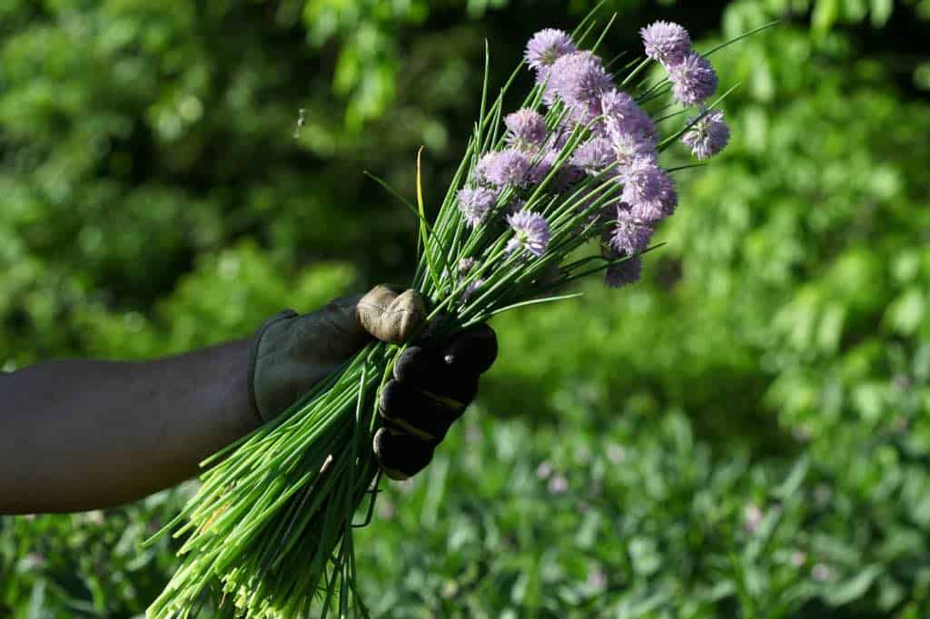
M593 14L571 34L579 48L592 38ZM648 62L625 64L618 70L622 78L617 78L619 87L635 93L633 99L644 108L662 106L671 87L668 79L644 81ZM479 119L432 221L420 191L419 155L416 204L375 178L419 221L419 260L411 286L427 303L430 337L438 341L502 311L578 296L552 293L579 278L638 260L652 248L636 254L605 251L604 235L617 220L604 213L616 210L625 186L618 176L621 164L604 165L564 182L579 145L591 140L604 118L569 123L573 108L562 100L547 100L546 81L538 82L521 106L539 113L549 136L561 136L549 142L556 146L525 155L533 169L548 153L546 173L533 183L498 187L494 204L480 222L465 217L460 192L477 187L476 168L483 157L512 143L501 120L505 95L521 67L493 102L487 96L487 69L485 60ZM667 109L658 107L653 113ZM683 112L666 113L657 123ZM695 122L657 140L656 150L667 149ZM669 172L681 167L686 166ZM518 211L544 222L538 224L545 228L545 238L537 239L545 241L541 253L523 245L533 241L527 240L533 230L519 230L512 223ZM202 605L209 605L214 616L368 615L357 586L352 531L372 518L380 481L371 450L379 426L376 402L403 349L369 344L285 414L203 463L199 491L157 533L174 531L184 543L179 569L153 601L150 617L196 616Z

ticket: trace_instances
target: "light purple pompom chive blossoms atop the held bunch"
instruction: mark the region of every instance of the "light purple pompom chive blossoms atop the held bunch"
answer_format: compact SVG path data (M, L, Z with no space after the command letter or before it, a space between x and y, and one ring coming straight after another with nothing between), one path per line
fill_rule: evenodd
M700 106L713 95L717 75L694 51L682 26L657 21L640 32L645 55L668 72L673 99ZM638 101L620 89L602 59L579 49L559 30L536 33L526 45L525 59L535 72L541 109L504 116L503 137L494 150L478 157L468 187L458 191L462 218L471 229L488 223L501 230L506 223L512 234L507 255L532 260L548 250L554 233L547 217L558 213L550 209L544 216L538 212L539 201L527 205L541 184L545 195L558 201L577 187L616 182L616 197L602 209L606 215L589 215L576 230L601 235L609 285L631 283L640 275L639 255L656 226L678 203L671 176L658 161L657 126L641 107L649 98ZM682 133L682 141L700 160L723 150L728 140L723 113L703 107ZM504 194L509 197L502 198ZM592 205L600 204L597 195L575 195L571 204L580 211L590 213Z

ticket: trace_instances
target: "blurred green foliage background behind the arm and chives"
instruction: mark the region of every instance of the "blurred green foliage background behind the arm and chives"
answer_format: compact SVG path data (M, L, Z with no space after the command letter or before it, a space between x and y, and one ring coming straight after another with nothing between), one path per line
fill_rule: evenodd
M479 103L585 0L0 4L0 364L142 359L404 282ZM734 141L643 283L495 326L479 402L360 531L393 617L930 613L930 2L617 0L715 58ZM519 90L519 88L517 88ZM294 137L299 109L306 123ZM671 158L683 158L683 153ZM136 504L0 519L0 617L134 617Z

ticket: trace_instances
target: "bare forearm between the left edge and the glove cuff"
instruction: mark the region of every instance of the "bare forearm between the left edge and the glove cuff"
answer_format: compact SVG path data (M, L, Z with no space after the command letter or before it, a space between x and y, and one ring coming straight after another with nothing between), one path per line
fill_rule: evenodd
M258 426L249 346L49 362L0 377L0 513L108 507L191 477Z

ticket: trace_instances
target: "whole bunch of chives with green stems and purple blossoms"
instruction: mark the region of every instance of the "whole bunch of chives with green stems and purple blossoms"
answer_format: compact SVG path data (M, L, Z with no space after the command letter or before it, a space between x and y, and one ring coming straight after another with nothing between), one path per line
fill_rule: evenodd
M610 286L637 280L656 225L677 204L670 173L689 167L663 169L659 153L681 139L704 160L726 145L716 109L725 93L709 102L717 76L707 57L721 46L698 54L684 28L659 21L641 31L646 58L617 69L595 54L610 23L582 49L592 15L571 35L543 30L530 39L525 61L536 86L516 112L503 115L517 72L488 106L485 60L481 114L432 223L418 159L418 205L408 204L420 232L413 287L431 310L431 336L566 298L545 295L593 273ZM646 84L640 75L652 61L667 76ZM660 138L658 127L670 122L677 125ZM355 584L353 518L365 494L365 522L371 517L375 402L402 349L368 345L284 415L206 460L213 466L200 491L160 532L187 538L150 617L195 615L210 591L219 591L227 616L290 619L317 608L367 616Z

